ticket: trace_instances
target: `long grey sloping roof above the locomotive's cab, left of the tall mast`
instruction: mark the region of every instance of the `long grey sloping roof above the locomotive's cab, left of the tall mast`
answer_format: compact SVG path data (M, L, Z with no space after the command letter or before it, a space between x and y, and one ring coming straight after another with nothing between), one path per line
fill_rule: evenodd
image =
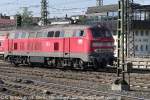
M118 4L88 7L86 14L118 11Z

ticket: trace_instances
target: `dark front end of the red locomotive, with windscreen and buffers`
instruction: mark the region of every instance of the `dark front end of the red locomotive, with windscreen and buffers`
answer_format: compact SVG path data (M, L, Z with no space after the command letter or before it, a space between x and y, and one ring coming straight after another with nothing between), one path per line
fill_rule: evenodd
M106 27L92 27L90 59L95 66L112 65L114 59L114 39Z

